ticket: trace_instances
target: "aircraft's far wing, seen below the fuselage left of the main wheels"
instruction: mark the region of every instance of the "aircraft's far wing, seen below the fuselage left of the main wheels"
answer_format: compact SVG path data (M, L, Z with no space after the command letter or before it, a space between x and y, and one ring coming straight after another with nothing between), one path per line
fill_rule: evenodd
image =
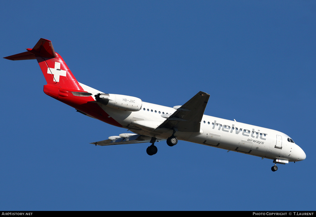
M150 142L151 136L143 136L143 135L132 135L126 138L119 137L116 139L107 139L99 142L92 142L90 144L99 145L99 146L111 146L111 145L123 145L123 144L135 144L135 143L144 143ZM166 141L166 139L157 139L156 141Z

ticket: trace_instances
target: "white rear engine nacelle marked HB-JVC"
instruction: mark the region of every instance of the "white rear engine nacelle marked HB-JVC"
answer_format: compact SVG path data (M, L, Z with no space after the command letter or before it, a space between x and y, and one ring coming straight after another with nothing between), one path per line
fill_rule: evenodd
M137 97L119 94L99 93L95 99L108 107L132 112L139 111L143 105L143 101Z

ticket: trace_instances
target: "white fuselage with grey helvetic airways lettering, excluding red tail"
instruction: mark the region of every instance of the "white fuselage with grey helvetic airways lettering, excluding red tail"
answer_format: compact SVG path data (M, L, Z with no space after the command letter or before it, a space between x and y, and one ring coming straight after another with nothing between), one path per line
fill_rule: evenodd
M171 130L160 135L152 133L152 131L166 120L161 115L172 114L176 111L174 108L148 102L143 102L141 110L136 112L108 108L102 104L100 106L124 128L129 128L134 133L160 139L167 139L172 135ZM137 122L143 123L143 127L136 124L133 125L133 123ZM214 146L262 158L300 161L306 157L299 146L288 141L288 138L290 139L288 135L276 130L208 115L203 115L200 127L199 133L176 132L174 135L179 140Z

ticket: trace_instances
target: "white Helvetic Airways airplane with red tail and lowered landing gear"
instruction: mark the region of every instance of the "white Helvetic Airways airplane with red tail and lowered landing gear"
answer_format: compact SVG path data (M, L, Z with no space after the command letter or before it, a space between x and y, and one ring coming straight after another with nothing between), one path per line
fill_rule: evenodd
M79 83L64 59L55 52L52 42L41 38L33 48L5 59L36 59L46 79L44 93L77 112L108 124L128 129L108 139L92 142L95 146L151 143L148 155L157 153L155 142L166 141L174 146L178 140L240 152L262 159L272 159L276 164L302 161L305 152L286 134L222 118L204 115L210 95L198 92L183 105L173 108L143 102L133 96L103 93Z

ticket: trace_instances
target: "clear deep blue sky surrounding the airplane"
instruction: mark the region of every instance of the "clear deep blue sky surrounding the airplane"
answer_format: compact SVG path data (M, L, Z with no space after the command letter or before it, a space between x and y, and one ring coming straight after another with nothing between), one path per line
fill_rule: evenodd
M314 1L15 1L2 57L52 41L76 79L272 128L305 151L272 160L179 141L97 146L125 133L46 96L36 60L1 59L0 210L315 210Z

